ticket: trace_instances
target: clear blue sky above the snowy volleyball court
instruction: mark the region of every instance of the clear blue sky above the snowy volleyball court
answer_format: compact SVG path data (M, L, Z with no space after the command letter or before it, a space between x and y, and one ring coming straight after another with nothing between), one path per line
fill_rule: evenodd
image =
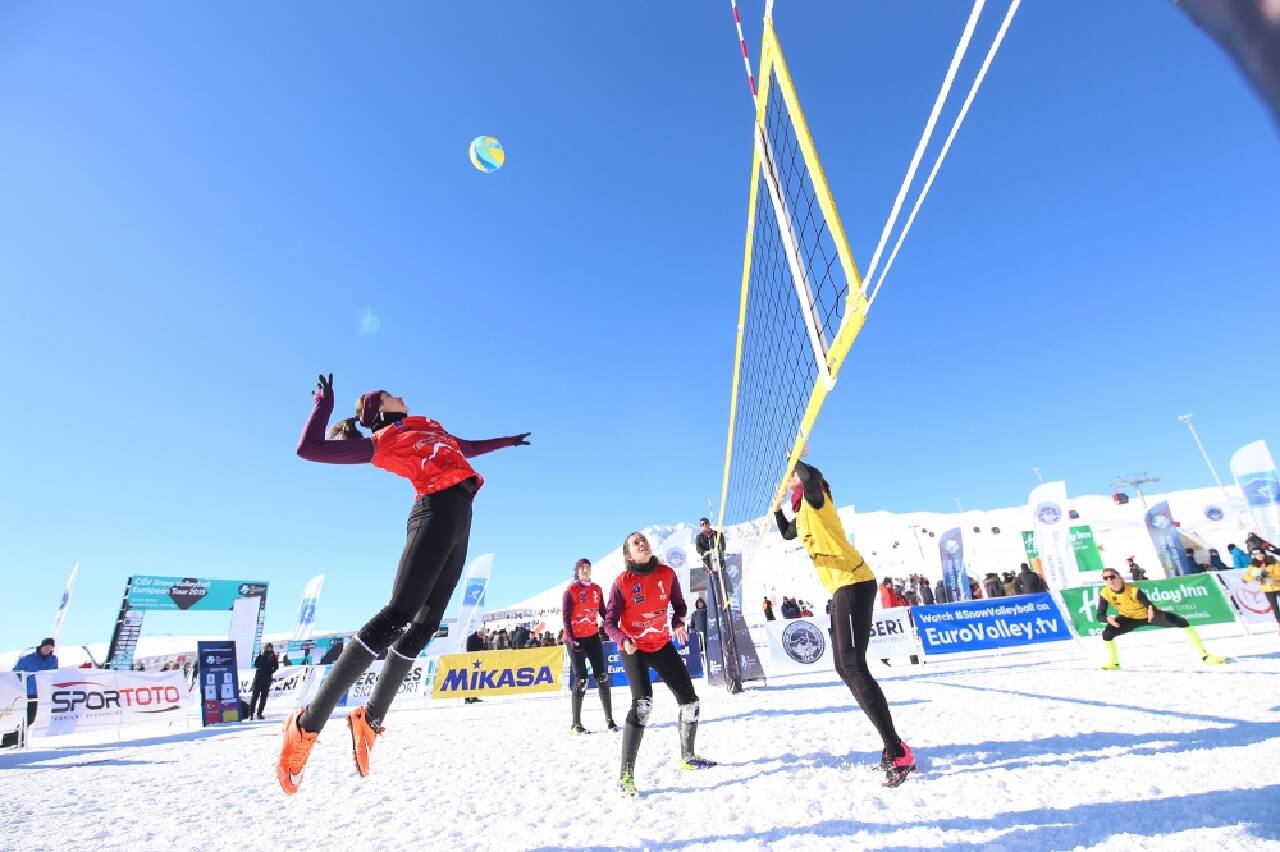
M864 266L968 8L777 4ZM320 572L321 627L376 611L412 491L293 454L320 371L342 414L388 388L532 431L477 462L493 604L696 519L750 123L721 1L0 3L0 647L47 633L77 560L64 641L105 641L133 573L268 580L269 631ZM1277 210L1280 136L1169 3L1024 4L813 459L841 503L948 510L1025 500L1032 466L1207 485L1185 412L1224 472L1280 449Z

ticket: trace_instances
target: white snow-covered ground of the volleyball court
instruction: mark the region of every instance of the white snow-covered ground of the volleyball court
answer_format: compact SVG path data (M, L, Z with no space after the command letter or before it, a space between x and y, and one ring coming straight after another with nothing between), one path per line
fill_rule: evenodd
M806 675L700 684L704 773L673 769L659 686L637 800L613 793L617 736L571 737L566 697L394 711L367 780L335 718L293 798L278 723L0 752L0 847L1280 849L1280 638L1211 641L1235 663L1204 668L1169 633L1121 640L1119 673L1096 640L876 664L922 765L899 789L864 768L879 745L847 690Z

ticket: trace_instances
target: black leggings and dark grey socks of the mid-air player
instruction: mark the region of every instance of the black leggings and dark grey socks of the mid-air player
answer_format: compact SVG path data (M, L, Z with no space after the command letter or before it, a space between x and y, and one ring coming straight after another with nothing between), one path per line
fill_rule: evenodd
M385 715L404 674L440 627L444 608L462 577L474 495L475 480L467 480L422 495L413 504L392 599L343 649L316 697L302 711L298 724L305 730L319 733L348 687L390 649L366 707L371 723Z

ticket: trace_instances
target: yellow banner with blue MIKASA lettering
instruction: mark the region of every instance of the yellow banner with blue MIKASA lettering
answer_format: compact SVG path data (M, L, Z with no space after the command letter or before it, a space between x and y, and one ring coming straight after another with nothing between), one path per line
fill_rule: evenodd
M466 698L494 695L558 692L564 649L476 651L445 654L431 683L433 698Z

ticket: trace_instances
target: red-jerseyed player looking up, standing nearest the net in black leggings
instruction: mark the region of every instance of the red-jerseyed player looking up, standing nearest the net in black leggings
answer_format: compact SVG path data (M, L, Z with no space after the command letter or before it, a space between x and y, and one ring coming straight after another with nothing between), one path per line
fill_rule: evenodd
M649 549L649 540L639 532L631 532L622 541L622 558L626 568L613 581L609 590L609 604L604 613L604 629L622 651L622 668L627 673L631 687L631 711L627 713L626 727L622 730L622 771L618 778L618 792L623 796L636 794L635 765L636 752L649 713L653 709L653 684L649 682L649 669L653 669L680 705L680 768L708 769L716 761L699 757L694 752L694 738L698 736L698 695L689 678L689 670L680 651L672 645L675 633L680 643L689 641L685 627L685 595L680 581L668 565L658 562ZM668 624L667 610L676 617Z

